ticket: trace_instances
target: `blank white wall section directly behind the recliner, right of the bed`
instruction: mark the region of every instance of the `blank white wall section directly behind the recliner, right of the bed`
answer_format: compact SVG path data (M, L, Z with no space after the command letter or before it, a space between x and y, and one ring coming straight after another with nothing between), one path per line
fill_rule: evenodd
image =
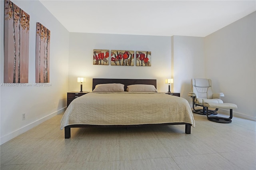
M204 38L172 36L172 73L174 92L187 99L192 106L191 79L204 78Z

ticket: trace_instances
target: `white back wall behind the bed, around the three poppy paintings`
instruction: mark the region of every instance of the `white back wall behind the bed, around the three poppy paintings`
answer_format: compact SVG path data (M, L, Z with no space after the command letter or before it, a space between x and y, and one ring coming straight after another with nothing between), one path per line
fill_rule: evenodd
M70 33L69 91L80 91L77 77L86 77L84 91L92 91L92 78L157 79L158 91L168 91L171 76L171 37ZM151 51L150 67L93 65L93 49Z

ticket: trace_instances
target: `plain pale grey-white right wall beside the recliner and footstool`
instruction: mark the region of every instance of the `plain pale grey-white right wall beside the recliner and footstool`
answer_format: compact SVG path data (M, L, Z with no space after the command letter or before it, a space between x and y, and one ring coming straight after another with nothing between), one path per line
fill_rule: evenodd
M256 12L205 37L205 65L234 115L256 121Z

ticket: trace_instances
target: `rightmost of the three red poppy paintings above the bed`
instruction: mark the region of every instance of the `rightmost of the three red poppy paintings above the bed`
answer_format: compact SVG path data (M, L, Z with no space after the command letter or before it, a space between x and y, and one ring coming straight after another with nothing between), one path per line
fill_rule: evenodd
M151 66L151 51L136 51L136 66Z

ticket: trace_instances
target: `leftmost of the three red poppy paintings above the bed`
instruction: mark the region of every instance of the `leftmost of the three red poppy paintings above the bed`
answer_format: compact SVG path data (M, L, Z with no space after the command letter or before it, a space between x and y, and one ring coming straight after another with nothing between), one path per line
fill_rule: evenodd
M93 50L93 64L94 65L108 65L109 50L108 49L94 49Z

